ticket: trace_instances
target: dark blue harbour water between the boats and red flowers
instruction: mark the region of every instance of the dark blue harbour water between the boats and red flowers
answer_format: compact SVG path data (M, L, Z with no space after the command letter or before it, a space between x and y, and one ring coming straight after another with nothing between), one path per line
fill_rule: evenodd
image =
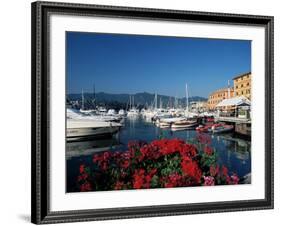
M142 117L126 118L124 127L112 138L66 143L67 192L75 192L76 178L81 163L92 164L92 156L101 151L125 151L129 141L146 142L161 138L180 138L194 142L198 133L195 129L171 131L160 129ZM218 163L225 165L240 178L251 172L251 141L235 133L209 134L211 147L218 154Z

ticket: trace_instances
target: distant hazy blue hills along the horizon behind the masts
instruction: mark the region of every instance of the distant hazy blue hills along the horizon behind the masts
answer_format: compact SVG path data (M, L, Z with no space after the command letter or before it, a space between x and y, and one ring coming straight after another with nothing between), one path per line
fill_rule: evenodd
M68 94L67 98L70 101L81 101L81 94ZM129 104L130 96L134 98L135 106L150 106L154 104L155 94L143 92L136 93L134 95L130 94L110 94L99 92L95 94L95 99L97 104L109 104L109 103L120 103L120 104ZM85 102L92 102L94 99L94 95L92 93L84 93ZM165 95L157 95L158 106L160 106L160 100L162 102L162 106L174 106L175 97L165 96ZM207 101L207 98L200 96L193 96L188 98L189 102L191 101ZM179 106L185 106L186 98L178 98L177 99Z

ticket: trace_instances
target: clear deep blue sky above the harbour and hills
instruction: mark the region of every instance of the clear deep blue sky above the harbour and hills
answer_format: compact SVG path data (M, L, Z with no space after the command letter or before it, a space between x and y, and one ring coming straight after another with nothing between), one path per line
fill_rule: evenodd
M66 33L67 93L207 97L251 71L251 41Z

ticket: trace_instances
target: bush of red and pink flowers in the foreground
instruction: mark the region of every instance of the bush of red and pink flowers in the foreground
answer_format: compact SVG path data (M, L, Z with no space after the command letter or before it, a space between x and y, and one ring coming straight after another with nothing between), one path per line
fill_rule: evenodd
M93 155L92 165L80 165L77 190L171 188L238 184L239 177L217 164L211 140L202 135L198 143L160 139L134 141L125 152Z

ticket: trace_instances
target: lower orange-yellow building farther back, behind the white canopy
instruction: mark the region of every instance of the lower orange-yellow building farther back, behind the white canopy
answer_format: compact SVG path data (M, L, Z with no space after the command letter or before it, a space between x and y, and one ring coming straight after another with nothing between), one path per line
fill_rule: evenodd
M212 92L208 98L208 109L214 110L216 105L224 99L228 99L234 96L234 89L223 88Z

